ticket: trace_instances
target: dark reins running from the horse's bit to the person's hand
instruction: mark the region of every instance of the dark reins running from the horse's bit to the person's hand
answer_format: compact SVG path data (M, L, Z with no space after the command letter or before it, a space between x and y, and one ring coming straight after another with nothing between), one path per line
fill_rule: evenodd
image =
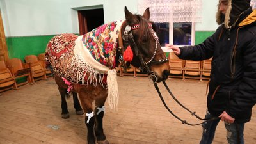
M172 96L172 98L175 100L175 102L177 102L180 106L182 106L182 108L184 108L184 109L186 109L187 111L189 111L189 113L191 113L192 116L195 116L196 118L198 118L198 120L204 120L204 122L200 122L200 123L198 123L198 124L191 124L191 123L187 122L186 120L182 120L181 118L179 118L179 116L175 115L175 113L173 113L172 110L171 110L170 108L168 108L168 106L167 106L167 104L165 103L165 101L164 101L164 99L163 99L163 96L162 96L162 94L161 94L161 92L160 92L160 90L159 90L159 88L158 88L158 86L157 86L157 83L154 83L154 86L155 86L155 88L156 88L156 90L157 90L157 93L158 93L158 95L159 95L161 101L162 101L163 104L164 104L164 107L169 111L170 114L172 114L175 118L177 118L178 120L180 120L180 121L182 122L182 124L187 124L187 125L195 126L195 125L204 124L205 122L209 122L209 121L212 121L212 120L218 120L218 119L220 119L220 118L218 118L218 117L214 117L214 118L200 118L200 116L196 115L196 112L195 112L195 111L194 111L194 112L190 111L188 108L186 108L186 106L184 106L183 104L181 104L181 103L179 102L179 100L177 100L177 99L175 98L175 96L173 95L173 93L170 91L170 89L168 88L167 84L165 83L165 81L163 81L163 84L164 84L166 90L169 92L169 94L170 94L170 95Z

